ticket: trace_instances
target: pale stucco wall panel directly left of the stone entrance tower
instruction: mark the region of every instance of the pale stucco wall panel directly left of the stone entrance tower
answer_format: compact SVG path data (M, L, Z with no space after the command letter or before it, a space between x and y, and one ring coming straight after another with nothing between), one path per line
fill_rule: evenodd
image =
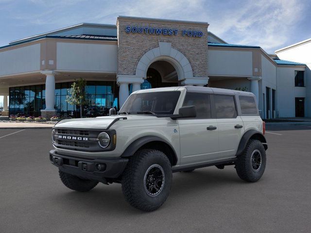
M58 70L117 72L117 45L57 42Z

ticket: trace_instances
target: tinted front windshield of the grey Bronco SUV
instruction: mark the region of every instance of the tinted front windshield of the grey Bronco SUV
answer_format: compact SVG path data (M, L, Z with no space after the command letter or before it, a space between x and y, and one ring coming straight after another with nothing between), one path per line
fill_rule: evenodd
M161 91L130 95L119 114L156 114L174 113L180 91Z

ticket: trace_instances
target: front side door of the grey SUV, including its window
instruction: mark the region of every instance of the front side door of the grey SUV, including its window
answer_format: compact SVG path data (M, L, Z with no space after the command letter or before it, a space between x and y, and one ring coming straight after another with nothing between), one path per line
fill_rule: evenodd
M180 132L180 165L196 164L218 157L218 125L211 118L210 95L187 93L183 106L196 107L197 116L178 119Z

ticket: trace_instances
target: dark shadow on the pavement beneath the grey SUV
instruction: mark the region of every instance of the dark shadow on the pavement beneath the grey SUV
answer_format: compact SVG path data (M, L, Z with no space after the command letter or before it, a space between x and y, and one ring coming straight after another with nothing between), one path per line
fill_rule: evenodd
M203 193L215 195L215 190L232 184L243 184L235 170L197 169L191 173L178 172L173 174L173 185L168 199L168 205L175 207L180 201L185 201L192 195ZM93 190L79 193L69 189L55 192L50 201L72 211L96 212L96 213L122 213L138 214L140 210L132 208L124 199L121 184L104 185L99 183ZM212 194L214 193L214 194ZM166 204L165 204L166 205Z

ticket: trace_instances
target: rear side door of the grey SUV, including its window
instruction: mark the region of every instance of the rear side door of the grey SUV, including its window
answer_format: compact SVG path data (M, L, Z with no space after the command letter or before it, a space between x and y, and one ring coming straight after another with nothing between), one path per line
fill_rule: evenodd
M219 158L234 157L242 135L244 125L237 114L234 95L213 95L214 108L219 132Z

